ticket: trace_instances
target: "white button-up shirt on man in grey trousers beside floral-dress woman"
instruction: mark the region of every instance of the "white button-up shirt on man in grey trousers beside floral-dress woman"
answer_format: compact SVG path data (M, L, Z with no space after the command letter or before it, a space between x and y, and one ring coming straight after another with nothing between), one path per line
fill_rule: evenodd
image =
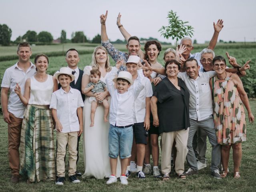
M186 72L178 73L190 93L189 117L194 120L204 120L212 115L212 92L209 80L216 75L214 71L199 72L196 80L191 79Z

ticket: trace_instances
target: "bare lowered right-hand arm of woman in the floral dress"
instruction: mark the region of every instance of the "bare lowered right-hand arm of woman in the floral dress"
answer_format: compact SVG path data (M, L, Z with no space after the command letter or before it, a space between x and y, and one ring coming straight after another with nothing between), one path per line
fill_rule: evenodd
M252 123L254 122L254 116L252 114L252 111L251 111L251 108L250 108L250 103L249 103L249 100L248 100L248 96L244 90L244 86L243 86L243 83L242 81L240 80L240 78L238 77L238 75L236 74L232 74L232 80L234 81L234 84L236 84L236 87L237 87L237 90L238 90L238 93L240 95L240 98L248 112L248 118L249 118L249 121Z

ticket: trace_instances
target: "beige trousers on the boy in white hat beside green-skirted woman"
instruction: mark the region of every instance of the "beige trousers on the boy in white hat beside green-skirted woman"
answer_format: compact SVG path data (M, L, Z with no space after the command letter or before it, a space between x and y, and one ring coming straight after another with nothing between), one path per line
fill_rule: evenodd
M77 136L78 132L68 132L61 133L56 132L56 138L58 142L58 151L57 151L57 175L58 177L65 177L65 161L64 157L66 155L66 145L68 144L68 176L76 174L76 159L77 159Z

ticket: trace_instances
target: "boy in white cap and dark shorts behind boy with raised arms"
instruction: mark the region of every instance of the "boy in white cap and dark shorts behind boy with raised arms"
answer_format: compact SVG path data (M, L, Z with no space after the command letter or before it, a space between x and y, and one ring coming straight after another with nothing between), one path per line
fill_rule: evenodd
M133 62L130 62L132 60ZM126 62L127 71L132 74L132 80L134 80L133 86L136 86L139 79L138 75L140 72L137 72L138 65L140 65L140 58L138 56L131 55L128 58L128 61ZM131 167L128 166L127 172L126 172L126 176L129 176L130 171L133 171L132 168L135 168L135 159L137 159L136 176L139 179L146 178L144 172L142 172L142 166L143 166L143 161L146 153L148 130L150 128L150 99L153 94L150 80L144 77L144 75L142 78L142 84L144 85L144 88L134 102L133 132L134 132L135 140L132 146L132 157L130 162ZM131 86L130 89L132 89L133 86ZM136 142L136 145L135 145L135 142ZM147 164L146 166L151 171L150 164Z

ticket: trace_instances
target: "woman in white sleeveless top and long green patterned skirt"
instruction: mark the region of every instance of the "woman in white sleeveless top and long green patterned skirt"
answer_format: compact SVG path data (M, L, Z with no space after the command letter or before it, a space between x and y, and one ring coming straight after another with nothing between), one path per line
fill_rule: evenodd
M35 57L37 73L25 83L24 96L15 88L27 106L20 138L20 174L28 183L55 180L55 156L52 113L49 109L52 92L58 90L55 77L46 74L49 59L44 54Z

